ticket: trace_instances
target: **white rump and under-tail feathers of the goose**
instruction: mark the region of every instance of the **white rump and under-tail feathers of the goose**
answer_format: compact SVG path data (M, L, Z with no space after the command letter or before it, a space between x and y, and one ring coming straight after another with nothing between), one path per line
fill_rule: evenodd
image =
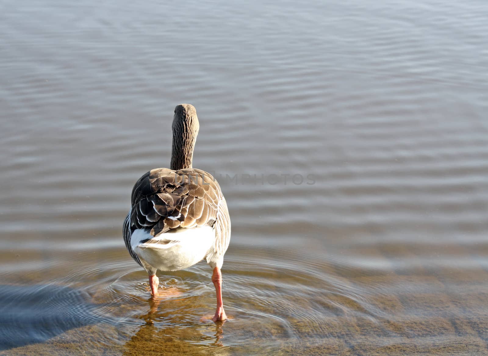
M159 243L141 243L152 239ZM178 271L200 262L206 257L215 241L215 231L210 226L168 231L153 237L148 230L132 233L132 250L143 262L160 271Z

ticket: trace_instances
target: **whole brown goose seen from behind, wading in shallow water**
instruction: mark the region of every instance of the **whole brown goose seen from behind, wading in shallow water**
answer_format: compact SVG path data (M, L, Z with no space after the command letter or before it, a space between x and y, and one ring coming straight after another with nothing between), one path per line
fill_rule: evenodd
M230 241L230 218L217 181L192 168L199 127L193 105L176 106L170 168L152 169L134 185L123 239L132 258L148 273L153 297L158 296L157 271L178 271L205 259L213 270L216 322L227 318L221 268Z

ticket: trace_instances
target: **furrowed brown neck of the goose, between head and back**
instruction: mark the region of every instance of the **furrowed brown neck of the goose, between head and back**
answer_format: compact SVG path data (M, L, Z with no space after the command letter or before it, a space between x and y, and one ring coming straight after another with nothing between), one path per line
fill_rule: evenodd
M178 170L183 168L192 168L193 149L197 135L183 127L173 128L173 147L171 149L171 166L170 169Z

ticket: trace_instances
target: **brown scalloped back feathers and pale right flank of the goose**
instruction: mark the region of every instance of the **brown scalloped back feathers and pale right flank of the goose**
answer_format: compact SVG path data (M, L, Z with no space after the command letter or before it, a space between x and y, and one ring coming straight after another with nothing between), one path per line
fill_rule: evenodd
M219 214L220 210L220 214ZM215 252L227 249L227 205L217 181L201 169L152 169L132 189L131 229L150 229L159 236L171 229L197 226L216 229Z

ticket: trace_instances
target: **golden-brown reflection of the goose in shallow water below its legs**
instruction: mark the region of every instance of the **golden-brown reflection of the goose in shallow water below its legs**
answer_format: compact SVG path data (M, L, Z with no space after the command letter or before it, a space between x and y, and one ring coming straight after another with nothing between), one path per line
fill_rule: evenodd
M223 343L223 322L203 325L184 321L187 315L173 314L161 309L160 298L148 300L149 311L138 316L144 320L137 332L124 345L124 355L230 355ZM209 336L201 330L215 328Z

